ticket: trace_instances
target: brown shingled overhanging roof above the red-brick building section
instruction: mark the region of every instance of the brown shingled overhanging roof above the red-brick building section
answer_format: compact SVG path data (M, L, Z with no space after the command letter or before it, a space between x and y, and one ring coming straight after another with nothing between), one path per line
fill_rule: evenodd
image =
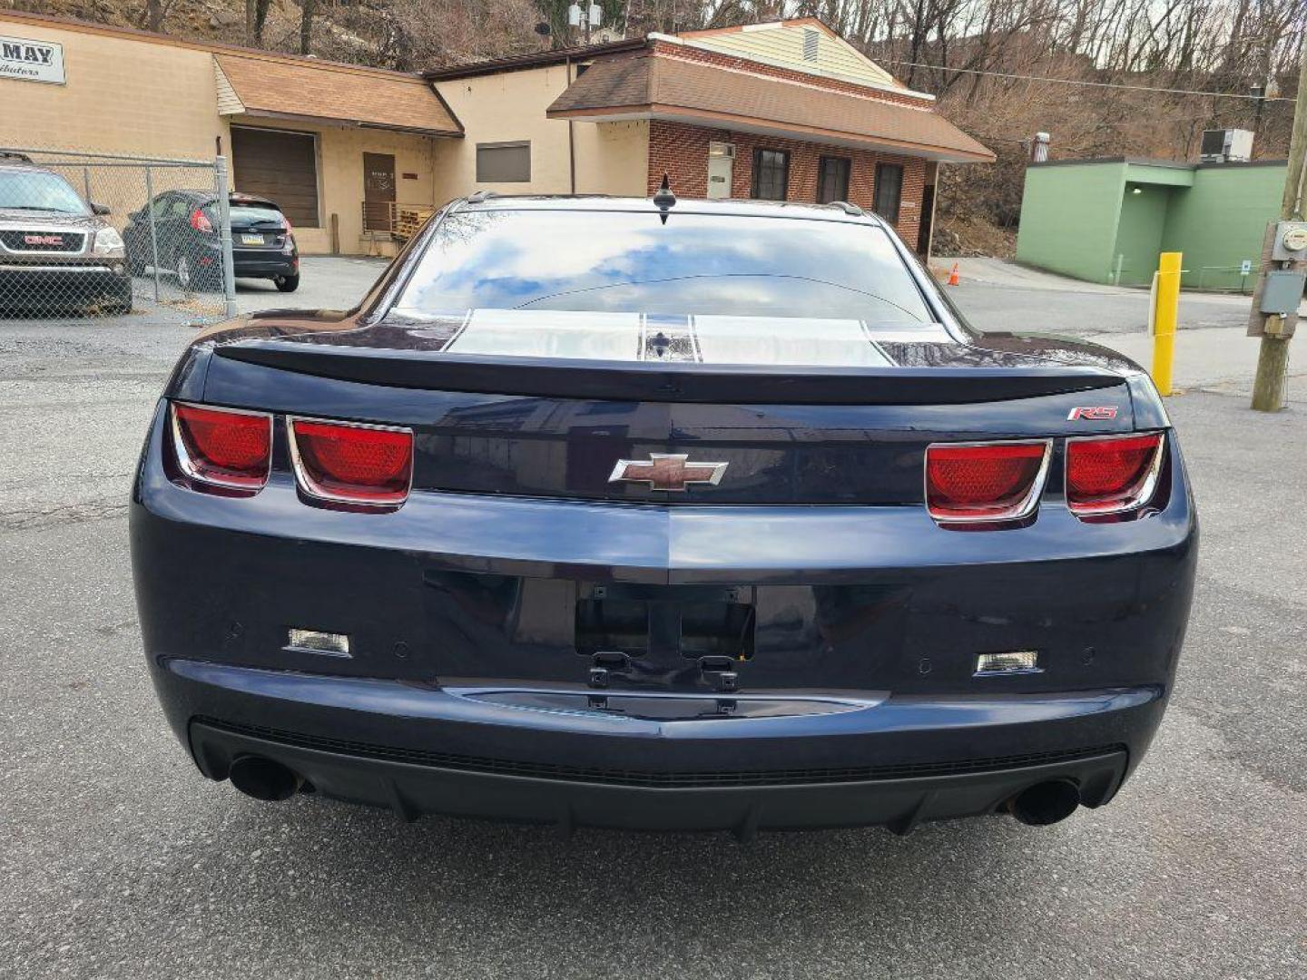
M995 154L927 107L643 51L595 61L552 106L550 119L678 119L775 132L932 159Z

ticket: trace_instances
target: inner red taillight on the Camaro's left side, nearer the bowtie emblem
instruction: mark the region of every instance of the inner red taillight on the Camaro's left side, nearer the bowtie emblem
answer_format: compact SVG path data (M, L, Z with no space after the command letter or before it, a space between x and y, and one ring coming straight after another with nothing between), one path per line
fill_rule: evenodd
M408 429L290 419L290 447L299 485L310 497L395 507L413 478Z

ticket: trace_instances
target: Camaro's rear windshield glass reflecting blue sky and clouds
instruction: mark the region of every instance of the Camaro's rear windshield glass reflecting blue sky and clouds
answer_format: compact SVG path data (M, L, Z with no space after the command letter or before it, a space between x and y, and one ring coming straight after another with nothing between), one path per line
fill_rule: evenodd
M399 306L929 321L878 227L672 213L468 210L447 217Z

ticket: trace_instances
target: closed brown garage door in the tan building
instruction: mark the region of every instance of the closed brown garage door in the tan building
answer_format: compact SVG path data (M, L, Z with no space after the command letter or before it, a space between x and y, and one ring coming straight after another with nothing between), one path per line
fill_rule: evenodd
M318 145L311 133L231 127L235 187L276 201L290 223L318 227Z

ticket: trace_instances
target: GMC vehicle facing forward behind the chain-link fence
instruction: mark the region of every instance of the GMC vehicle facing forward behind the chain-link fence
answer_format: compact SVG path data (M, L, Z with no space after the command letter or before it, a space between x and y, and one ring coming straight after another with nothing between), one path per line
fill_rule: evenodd
M131 312L123 239L107 214L55 171L0 154L0 312Z

